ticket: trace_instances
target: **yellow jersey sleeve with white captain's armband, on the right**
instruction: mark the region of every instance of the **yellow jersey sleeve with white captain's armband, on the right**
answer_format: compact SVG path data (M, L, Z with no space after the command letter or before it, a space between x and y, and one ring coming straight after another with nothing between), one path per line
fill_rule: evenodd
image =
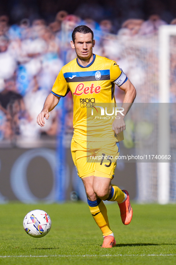
M110 79L117 86L122 86L128 79L115 61L112 61L110 66Z

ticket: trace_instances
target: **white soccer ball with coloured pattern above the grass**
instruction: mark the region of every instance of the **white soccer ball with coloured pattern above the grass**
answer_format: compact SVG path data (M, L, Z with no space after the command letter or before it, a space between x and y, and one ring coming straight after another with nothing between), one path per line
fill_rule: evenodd
M45 211L33 210L24 217L23 227L28 235L39 238L48 234L51 219Z

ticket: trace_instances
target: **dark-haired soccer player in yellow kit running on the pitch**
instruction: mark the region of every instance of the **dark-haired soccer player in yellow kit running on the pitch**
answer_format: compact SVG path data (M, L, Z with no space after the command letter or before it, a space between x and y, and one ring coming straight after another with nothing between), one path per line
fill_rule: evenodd
M78 176L85 186L91 214L103 233L102 247L110 248L116 245L116 241L110 229L103 201L118 202L122 222L127 225L133 215L129 194L126 190L111 184L116 161L108 159L108 164L103 161L87 162L87 156L94 153L106 156L119 154L119 141L123 140L123 130L125 130L124 116L135 99L136 91L115 61L93 54L94 45L94 33L89 27L78 26L74 29L71 47L75 49L77 58L60 70L43 110L37 117L37 123L41 127L44 126L44 118L46 120L49 118L49 111L58 104L60 97L65 97L71 91L74 101L74 135L71 153ZM95 103L95 107L99 105L98 103L115 103L114 84L125 92L122 104L124 111L118 113L118 119L114 119L108 141L94 135L92 141L89 137L87 143L86 109L90 103Z

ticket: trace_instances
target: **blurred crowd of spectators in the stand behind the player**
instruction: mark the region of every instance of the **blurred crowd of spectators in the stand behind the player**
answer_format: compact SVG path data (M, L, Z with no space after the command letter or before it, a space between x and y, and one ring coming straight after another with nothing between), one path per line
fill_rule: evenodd
M74 10L71 14L68 7L65 7L67 11L61 10L64 3L59 6L58 1L54 0L7 2L10 13L7 14L5 9L2 13L1 4L0 16L0 141L7 140L15 144L18 139L31 141L39 139L41 135L54 137L57 134L62 103L51 112L43 128L37 125L36 117L43 108L44 100L50 93L61 67L76 57L75 51L70 47L70 41L74 27L80 24L87 25L94 31L96 45L93 52L117 61L123 66L128 77L131 76L130 80L134 85L143 91L141 95L139 93L139 102L157 102L155 89L146 90L149 85L146 83L144 72L146 74L150 71L150 82L155 83L154 76L156 78L158 75L155 50L158 47L158 29L164 24L176 24L174 4L173 12L169 12L163 2L148 1L153 8L146 5L148 13L144 14L140 5L145 1L104 1L104 5L100 5L98 1L82 4L73 1L75 9L71 1L66 1L65 4ZM172 1L170 6L172 7ZM146 14L148 18L145 18ZM147 41L149 50L145 46ZM174 40L173 42L175 43ZM127 45L126 51L124 44ZM138 58L140 52L142 55ZM144 67L144 57L147 57L149 70ZM152 65L149 64L151 58ZM174 52L172 58L174 77L171 102L175 102ZM156 70L152 73L154 65ZM158 84L154 85L157 90ZM147 91L149 97L146 95ZM66 131L72 133L71 94L66 98L66 105L69 106L65 109ZM123 98L123 91L116 89L116 101L123 102Z

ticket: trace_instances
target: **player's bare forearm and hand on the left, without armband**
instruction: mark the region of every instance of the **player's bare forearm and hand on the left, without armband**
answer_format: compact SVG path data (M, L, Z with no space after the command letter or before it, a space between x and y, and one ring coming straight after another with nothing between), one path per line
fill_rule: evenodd
M60 97L55 96L54 94L50 93L48 97L45 100L43 109L41 113L38 114L37 116L37 123L41 127L45 125L45 120L48 120L49 118L49 111L52 111L54 107L59 103Z

